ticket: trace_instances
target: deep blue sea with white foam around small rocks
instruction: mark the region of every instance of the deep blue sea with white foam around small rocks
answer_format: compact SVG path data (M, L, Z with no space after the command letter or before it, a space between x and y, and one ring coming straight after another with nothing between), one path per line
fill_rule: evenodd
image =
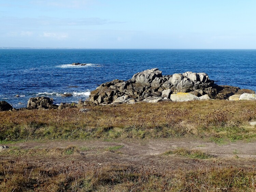
M256 91L256 50L0 49L0 100L16 108L37 96L52 97L55 104L78 102L104 82L152 68L163 75L205 72L218 85Z

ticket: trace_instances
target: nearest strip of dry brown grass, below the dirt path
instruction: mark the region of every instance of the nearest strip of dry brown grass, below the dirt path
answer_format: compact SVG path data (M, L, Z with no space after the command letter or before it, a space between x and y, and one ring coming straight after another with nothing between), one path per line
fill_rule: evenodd
M213 163L196 169L97 165L76 161L54 166L25 161L0 164L0 191L255 191L254 167Z

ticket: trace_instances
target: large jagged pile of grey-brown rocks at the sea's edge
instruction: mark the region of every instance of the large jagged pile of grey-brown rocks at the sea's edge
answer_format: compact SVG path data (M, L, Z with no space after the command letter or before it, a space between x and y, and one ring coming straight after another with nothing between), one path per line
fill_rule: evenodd
M159 101L164 98L170 99L172 94L180 92L193 94L196 96L191 96L193 98L206 95L201 97L202 100L228 99L239 91L242 91L239 87L214 84L206 73L162 75L162 72L155 68L136 73L126 81L115 79L101 84L96 90L91 91L87 102L96 105L127 103L126 100L129 99L133 99L133 102L152 102L156 98Z

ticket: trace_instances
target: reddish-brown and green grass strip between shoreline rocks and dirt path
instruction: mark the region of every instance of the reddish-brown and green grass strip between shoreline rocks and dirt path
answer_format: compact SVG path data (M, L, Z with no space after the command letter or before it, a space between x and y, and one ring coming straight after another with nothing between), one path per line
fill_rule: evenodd
M256 138L255 101L136 103L0 113L0 142L200 137L219 144Z

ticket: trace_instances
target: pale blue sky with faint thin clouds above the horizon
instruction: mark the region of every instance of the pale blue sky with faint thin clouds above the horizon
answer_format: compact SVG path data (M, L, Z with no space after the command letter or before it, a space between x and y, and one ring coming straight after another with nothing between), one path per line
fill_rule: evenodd
M256 49L256 0L0 0L0 47Z

